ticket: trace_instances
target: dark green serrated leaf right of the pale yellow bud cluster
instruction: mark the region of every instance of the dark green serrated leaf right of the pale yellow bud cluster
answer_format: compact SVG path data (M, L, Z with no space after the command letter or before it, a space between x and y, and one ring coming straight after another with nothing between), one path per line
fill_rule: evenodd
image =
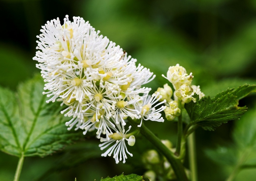
M194 95L196 103L185 104L191 120L190 124L197 124L205 130L215 130L222 123L239 119L246 107L239 107L238 100L246 97L249 93L256 91L256 85L244 85L237 89L228 89L217 94L214 98Z

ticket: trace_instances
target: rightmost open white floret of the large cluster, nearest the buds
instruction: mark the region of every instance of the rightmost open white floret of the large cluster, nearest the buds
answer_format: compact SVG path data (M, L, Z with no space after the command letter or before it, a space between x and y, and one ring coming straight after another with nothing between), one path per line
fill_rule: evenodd
M151 120L151 121L158 121L158 122L164 122L163 117L161 117L161 111L165 110L165 106L162 106L160 108L156 108L158 105L161 105L166 102L166 100L163 100L162 102L157 103L161 98L162 95L159 95L160 93L157 92L156 94L152 94L151 96L148 96L141 102L137 102L135 104L135 109L139 110L139 115L141 116L141 123L138 125L138 127L141 127L142 120Z

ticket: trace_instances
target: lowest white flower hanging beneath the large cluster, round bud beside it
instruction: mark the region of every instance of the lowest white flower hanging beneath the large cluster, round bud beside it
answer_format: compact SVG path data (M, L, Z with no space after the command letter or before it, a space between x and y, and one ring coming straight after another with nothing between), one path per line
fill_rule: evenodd
M133 156L127 150L125 141L127 141L130 146L133 146L135 143L135 137L133 135L127 134L127 132L130 131L131 126L129 126L129 129L127 131L124 130L123 126L122 128L120 125L117 127L119 130L116 130L116 133L112 134L109 140L105 138L100 139L100 141L104 143L100 144L99 147L101 150L104 150L105 148L114 144L111 147L109 147L105 153L101 154L101 156L111 156L113 153L113 158L115 159L115 162L118 164L119 161L122 160L123 163L125 163L125 159L127 159L126 153L129 154L130 156Z

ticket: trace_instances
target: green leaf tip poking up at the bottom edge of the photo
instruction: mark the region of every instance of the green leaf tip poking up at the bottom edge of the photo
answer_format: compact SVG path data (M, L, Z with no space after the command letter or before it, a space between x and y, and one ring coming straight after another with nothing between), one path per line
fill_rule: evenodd
M147 177L144 177L144 176L139 176L139 175L136 175L136 174L124 175L124 173L122 173L119 176L116 175L112 178L107 177L107 178L102 178L100 180L101 181L125 181L125 180L129 180L129 181L141 181L141 180L149 181L149 179Z

